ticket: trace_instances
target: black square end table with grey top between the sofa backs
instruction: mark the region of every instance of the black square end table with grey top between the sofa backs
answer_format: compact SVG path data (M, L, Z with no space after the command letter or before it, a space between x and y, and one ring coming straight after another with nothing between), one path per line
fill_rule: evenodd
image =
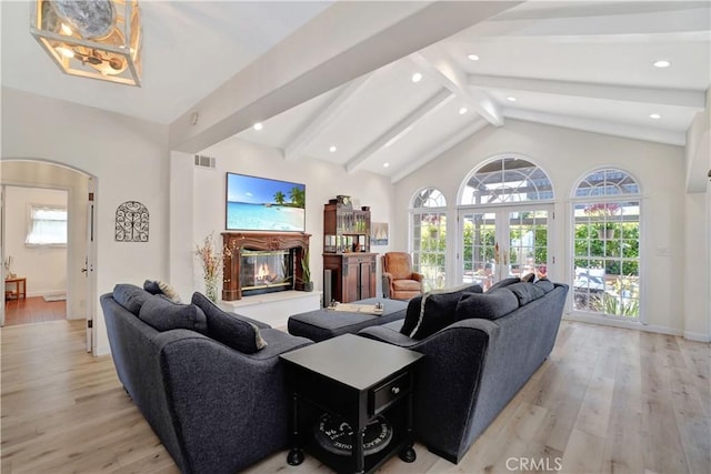
M395 452L413 462L412 386L422 356L353 334L280 355L293 394L289 464L303 462L302 448L337 472L372 472Z

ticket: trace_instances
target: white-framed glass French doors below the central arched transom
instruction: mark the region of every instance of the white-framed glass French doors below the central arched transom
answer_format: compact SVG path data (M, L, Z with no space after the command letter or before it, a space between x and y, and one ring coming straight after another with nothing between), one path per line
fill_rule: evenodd
M509 276L548 275L552 258L552 205L461 209L458 278L485 290Z

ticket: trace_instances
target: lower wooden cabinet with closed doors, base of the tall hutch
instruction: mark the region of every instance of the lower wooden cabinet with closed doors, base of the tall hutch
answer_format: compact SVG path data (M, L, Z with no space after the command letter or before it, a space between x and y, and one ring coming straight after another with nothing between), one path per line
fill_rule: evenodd
M323 270L330 270L331 297L341 303L374 297L377 255L354 252L324 253Z

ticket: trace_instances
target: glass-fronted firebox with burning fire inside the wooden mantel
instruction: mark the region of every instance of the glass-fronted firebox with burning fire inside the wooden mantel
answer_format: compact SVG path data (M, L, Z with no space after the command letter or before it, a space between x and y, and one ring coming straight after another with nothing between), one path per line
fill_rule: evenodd
M291 290L293 249L242 250L240 284L243 295Z

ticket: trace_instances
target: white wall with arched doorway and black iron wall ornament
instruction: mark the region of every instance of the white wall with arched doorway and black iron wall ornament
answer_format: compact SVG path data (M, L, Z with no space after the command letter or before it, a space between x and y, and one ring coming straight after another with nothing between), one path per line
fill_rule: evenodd
M63 163L96 178L96 354L109 352L98 296L120 282L167 278L167 143L166 125L2 88L2 160ZM130 200L150 211L149 242L114 240L116 209Z

